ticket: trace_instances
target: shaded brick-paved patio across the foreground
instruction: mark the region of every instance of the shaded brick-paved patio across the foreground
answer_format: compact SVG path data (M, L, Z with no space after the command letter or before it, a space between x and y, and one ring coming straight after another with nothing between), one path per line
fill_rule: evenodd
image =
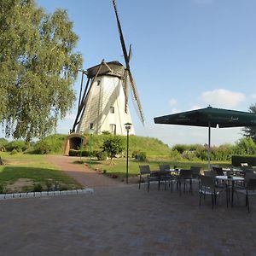
M210 198L157 185L0 201L0 255L256 255L256 201L212 211Z

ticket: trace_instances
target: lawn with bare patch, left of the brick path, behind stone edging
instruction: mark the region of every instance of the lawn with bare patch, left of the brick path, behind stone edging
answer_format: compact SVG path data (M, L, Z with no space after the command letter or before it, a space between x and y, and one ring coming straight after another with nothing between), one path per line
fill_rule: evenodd
M1 153L0 188L6 192L79 189L72 177L50 165L46 155ZM3 192L3 191L1 191Z

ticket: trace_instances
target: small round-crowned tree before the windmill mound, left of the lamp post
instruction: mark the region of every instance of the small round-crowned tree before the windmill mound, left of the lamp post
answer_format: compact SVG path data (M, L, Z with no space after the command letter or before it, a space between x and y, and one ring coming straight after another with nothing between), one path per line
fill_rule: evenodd
M108 154L108 157L110 157L111 164L113 162L113 157L116 154L121 153L123 150L124 150L124 142L119 136L113 136L108 138L103 142L103 145L102 145L102 151Z

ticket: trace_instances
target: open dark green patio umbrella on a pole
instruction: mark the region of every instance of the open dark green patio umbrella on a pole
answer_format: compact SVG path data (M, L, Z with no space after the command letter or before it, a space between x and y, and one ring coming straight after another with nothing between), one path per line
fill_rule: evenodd
M223 108L200 108L154 118L155 124L208 127L208 166L211 160L211 127L227 128L256 126L256 113Z

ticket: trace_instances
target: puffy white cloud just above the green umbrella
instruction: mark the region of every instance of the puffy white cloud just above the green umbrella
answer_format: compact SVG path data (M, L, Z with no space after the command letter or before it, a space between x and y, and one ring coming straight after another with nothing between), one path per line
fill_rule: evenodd
M239 103L243 102L246 96L241 92L234 92L225 89L216 89L205 91L201 94L201 100L219 108L234 108Z

